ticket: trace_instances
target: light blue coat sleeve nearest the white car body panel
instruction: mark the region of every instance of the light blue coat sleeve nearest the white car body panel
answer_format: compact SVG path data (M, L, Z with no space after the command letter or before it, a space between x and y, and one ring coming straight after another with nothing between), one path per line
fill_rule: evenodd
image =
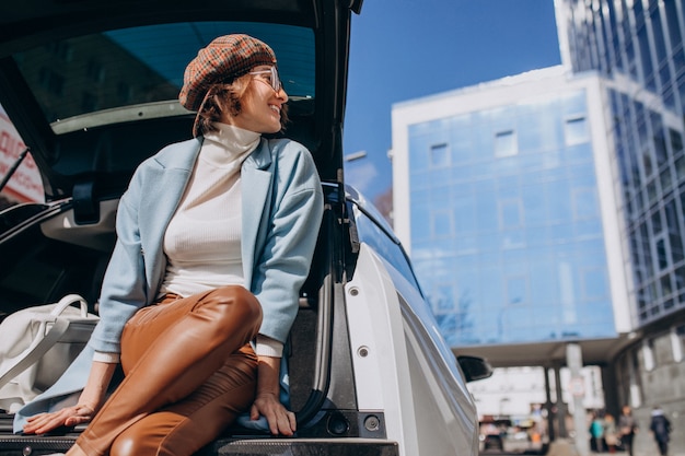
M264 309L259 332L285 342L314 255L323 191L314 161L303 145L291 141L277 149L270 225L256 257L252 291Z

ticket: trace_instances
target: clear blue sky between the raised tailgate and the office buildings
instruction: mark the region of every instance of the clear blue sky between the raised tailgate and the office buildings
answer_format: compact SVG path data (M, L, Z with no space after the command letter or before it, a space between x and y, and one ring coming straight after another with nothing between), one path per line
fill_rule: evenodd
M352 16L346 182L392 186L392 105L559 65L553 0L364 0Z

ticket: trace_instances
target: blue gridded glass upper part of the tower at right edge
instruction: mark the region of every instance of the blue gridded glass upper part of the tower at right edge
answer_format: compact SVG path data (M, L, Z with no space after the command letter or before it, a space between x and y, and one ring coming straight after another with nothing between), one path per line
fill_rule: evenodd
M645 326L685 308L684 4L559 0L556 8L564 62L616 84L607 108L631 297Z

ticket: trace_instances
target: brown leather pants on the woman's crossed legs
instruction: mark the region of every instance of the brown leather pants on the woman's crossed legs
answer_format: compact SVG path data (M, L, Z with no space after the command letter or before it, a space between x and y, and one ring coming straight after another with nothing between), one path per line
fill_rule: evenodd
M89 456L190 456L255 397L257 299L224 287L138 311L121 335L126 374L77 440Z

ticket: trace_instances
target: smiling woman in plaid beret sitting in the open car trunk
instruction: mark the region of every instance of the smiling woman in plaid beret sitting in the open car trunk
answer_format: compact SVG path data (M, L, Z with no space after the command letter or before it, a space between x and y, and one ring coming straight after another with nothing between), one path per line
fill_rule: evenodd
M254 37L200 49L179 101L197 112L194 138L136 171L90 350L43 396L83 388L80 398L23 426L89 423L69 456L190 456L243 412L272 434L295 431L279 367L323 212L314 161L262 136L282 130L288 95ZM125 378L105 401L119 362Z

